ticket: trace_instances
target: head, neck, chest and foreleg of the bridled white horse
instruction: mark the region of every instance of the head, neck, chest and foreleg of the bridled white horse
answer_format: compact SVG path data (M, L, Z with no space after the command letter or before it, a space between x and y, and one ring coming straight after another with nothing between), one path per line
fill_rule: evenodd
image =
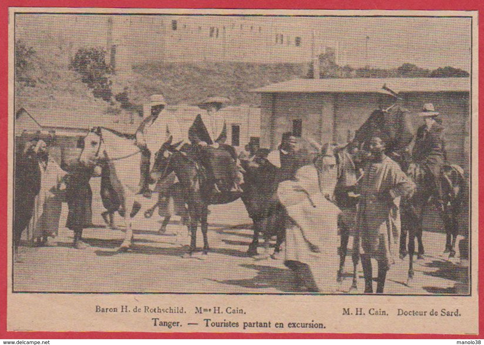
M97 165L102 160L109 165L109 179L125 210L126 234L120 249L127 249L133 240L131 212L140 189L141 150L136 146L134 137L95 127L84 137L79 161L89 166Z

